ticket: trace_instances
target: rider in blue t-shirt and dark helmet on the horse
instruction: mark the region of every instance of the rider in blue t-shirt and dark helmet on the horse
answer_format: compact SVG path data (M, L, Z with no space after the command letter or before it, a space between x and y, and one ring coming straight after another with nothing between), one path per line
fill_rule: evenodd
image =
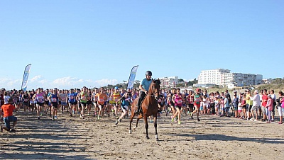
M139 85L139 89L141 90L141 93L139 94L139 97L138 97L137 110L135 112L136 114L139 114L142 111L141 110L141 103L142 103L143 99L145 98L145 96L148 94L149 87L152 83L151 77L152 77L152 72L147 71L146 72L146 78L144 78Z

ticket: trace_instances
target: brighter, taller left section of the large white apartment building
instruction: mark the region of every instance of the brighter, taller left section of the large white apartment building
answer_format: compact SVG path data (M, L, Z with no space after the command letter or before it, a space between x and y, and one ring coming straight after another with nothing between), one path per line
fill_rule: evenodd
M198 76L198 84L222 85L221 74L230 73L229 69L212 69L201 71Z

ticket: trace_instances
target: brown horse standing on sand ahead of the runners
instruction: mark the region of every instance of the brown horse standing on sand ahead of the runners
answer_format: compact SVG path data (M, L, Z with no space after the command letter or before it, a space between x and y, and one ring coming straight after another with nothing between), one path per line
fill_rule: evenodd
M154 117L154 127L155 127L155 139L158 140L158 132L157 132L157 116L158 116L158 97L159 97L159 92L160 92L160 79L153 80L151 86L149 87L148 94L144 98L144 100L141 103L141 109L143 110L143 113L139 113L137 121L136 121L136 126L133 128L134 130L136 127L138 127L138 121L141 118L144 118L145 121L145 128L146 128L146 138L149 139L148 136L148 121L147 118L151 115ZM131 125L133 118L136 116L134 113L137 106L136 104L138 103L138 98L133 101L131 105L131 118L130 118L130 126L129 126L129 133L131 133Z

